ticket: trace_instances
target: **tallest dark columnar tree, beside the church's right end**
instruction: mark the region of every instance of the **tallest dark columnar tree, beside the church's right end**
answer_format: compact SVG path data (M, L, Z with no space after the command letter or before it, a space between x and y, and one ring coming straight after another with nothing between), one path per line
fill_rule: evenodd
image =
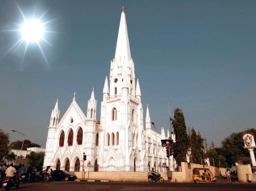
M174 110L174 119L172 120L174 128L175 141L173 144L174 158L178 165L181 162L187 161L187 151L189 149L189 137L187 135L187 127L185 124L185 118L181 109L176 108Z

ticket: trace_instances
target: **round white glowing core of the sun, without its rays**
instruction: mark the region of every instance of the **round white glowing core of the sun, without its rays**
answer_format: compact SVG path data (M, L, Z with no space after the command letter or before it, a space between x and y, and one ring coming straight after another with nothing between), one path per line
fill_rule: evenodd
M26 20L21 28L22 39L26 42L38 42L44 36L44 26L39 20Z

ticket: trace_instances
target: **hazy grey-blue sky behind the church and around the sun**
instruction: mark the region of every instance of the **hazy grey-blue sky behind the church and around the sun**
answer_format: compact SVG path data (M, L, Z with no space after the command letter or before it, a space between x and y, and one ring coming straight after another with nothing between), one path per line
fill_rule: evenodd
M217 147L256 128L256 1L0 0L0 128L11 142L22 140L15 129L45 147L57 98L63 116L74 92L86 114L94 87L100 118L122 5L144 116L149 104L158 132L170 128L168 101L171 116L181 108ZM26 42L9 50L22 36L19 7L26 19L42 16L42 51Z

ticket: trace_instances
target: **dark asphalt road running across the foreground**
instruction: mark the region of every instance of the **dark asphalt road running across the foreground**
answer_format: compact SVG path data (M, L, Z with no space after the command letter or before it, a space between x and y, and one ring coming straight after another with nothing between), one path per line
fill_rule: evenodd
M0 191L4 190L3 188ZM11 190L16 190L12 188ZM58 190L196 190L196 191L236 191L236 190L256 190L256 184L221 184L221 183L146 183L146 182L38 182L20 184L18 190L36 190L36 191L58 191Z

